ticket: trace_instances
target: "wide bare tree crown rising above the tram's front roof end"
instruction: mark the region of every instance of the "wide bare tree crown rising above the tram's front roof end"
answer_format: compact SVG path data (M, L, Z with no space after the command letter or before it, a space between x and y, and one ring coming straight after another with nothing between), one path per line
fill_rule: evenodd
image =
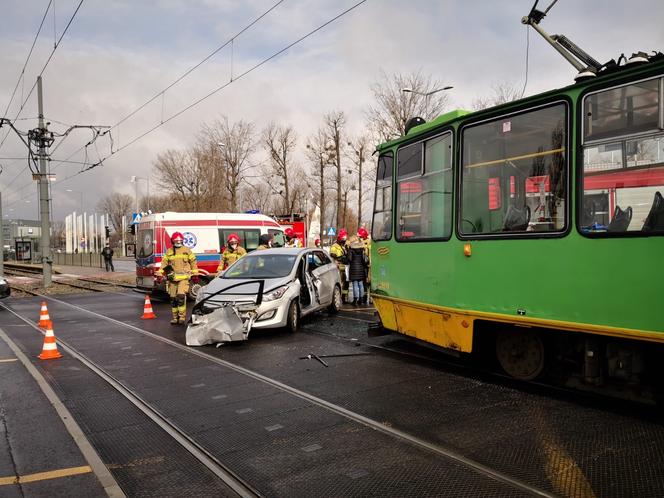
M404 92L404 88L410 92ZM371 85L375 103L366 112L377 140L387 141L406 133L406 123L415 116L431 120L447 107L443 83L421 72L393 74L381 71L380 80Z

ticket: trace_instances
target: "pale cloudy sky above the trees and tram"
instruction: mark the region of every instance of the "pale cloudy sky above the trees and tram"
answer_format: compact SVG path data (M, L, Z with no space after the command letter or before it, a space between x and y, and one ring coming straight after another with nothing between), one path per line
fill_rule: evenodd
M187 148L203 123L222 115L231 122L251 121L257 130L271 121L291 125L302 146L332 110L344 111L349 133L361 133L365 109L373 103L370 86L381 72L420 71L452 85L450 108L469 108L499 83L522 88L527 46L525 96L564 87L576 74L521 24L533 0L366 0L245 74L358 1L57 0L22 73L49 0L0 0L0 116L8 109L6 117L17 118L20 131L37 126L36 91L29 98L28 93L52 53L42 74L49 129L114 126L113 149L107 135L87 148L86 157L83 146L91 132L85 129L51 147L53 219L62 220L74 210L96 211L99 199L112 192L134 195L138 185L144 195L147 182L133 184L132 175L150 177L155 194L157 154ZM550 3L541 0L539 8ZM621 53L664 51L663 20L662 0L559 0L540 25L605 62ZM115 126L231 39L163 96ZM8 131L0 129L5 219L38 219L37 184L24 159L26 147ZM78 163L96 162L118 148L101 166L80 173ZM58 161L65 159L70 162Z

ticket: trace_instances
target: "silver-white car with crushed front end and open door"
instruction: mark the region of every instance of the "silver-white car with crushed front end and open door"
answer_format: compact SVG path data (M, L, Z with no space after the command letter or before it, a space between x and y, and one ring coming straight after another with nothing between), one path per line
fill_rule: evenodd
M341 308L336 264L318 248L254 251L203 287L187 326L188 346L245 341L253 329L295 332L302 316Z

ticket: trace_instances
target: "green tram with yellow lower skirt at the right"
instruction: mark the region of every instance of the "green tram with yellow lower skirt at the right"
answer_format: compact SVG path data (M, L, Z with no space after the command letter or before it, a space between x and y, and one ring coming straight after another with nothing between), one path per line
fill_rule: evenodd
M638 60L378 146L383 327L643 394L664 359L664 56Z

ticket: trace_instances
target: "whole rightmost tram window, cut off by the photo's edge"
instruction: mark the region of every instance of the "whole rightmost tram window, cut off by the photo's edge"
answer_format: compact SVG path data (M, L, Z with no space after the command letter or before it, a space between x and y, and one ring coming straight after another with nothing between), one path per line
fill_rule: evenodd
M663 85L651 79L584 99L582 234L664 234Z

